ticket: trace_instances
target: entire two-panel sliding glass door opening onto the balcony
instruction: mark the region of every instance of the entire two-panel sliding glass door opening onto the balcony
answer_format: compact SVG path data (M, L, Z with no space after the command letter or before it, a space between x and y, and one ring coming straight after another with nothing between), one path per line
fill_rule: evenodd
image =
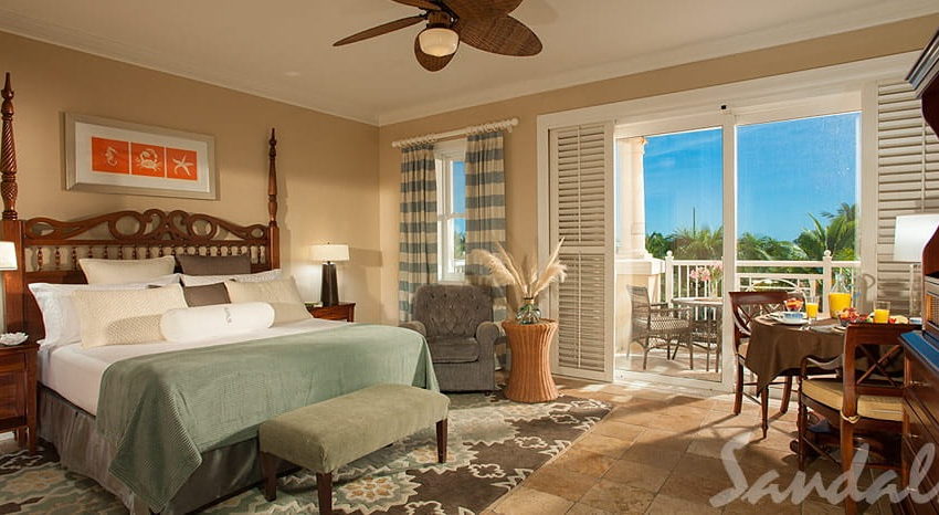
M727 292L853 292L859 114L620 125L615 375L732 386Z

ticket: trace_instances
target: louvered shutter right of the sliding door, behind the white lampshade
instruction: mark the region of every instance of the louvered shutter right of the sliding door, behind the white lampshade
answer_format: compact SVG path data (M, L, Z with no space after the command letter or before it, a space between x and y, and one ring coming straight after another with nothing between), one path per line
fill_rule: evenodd
M894 259L898 214L939 212L939 139L906 82L877 84L877 298L909 312L909 263ZM917 293L918 294L918 293Z

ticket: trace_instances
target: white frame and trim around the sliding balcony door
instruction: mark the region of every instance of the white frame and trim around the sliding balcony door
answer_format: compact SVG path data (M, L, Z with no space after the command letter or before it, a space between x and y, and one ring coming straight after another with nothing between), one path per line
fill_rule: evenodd
M897 74L905 73L912 65L917 55L918 52L908 52L823 69L709 86L700 90L539 115L537 117L539 256L542 259L546 258L553 245L550 239L549 227L551 220L550 206L547 201L550 191L548 143L549 132L551 129L613 120L618 128L615 136L623 137L626 135L621 130L623 126L654 125L656 122L663 125L674 125L676 122L668 118L684 118L687 122L689 118L709 118L708 115L724 114L729 115L725 116L725 124L722 124L725 127L725 154L732 156L736 155L734 149L734 145L736 144L736 125L799 118L810 113L813 115L823 114L819 113L820 105L827 105L829 109L837 112L844 109L845 103L859 104L861 92L865 84L871 81L895 77ZM840 96L844 98L844 103L836 102L836 98ZM821 102L817 102L819 99ZM857 111L857 108L844 111ZM862 117L865 115L863 113ZM680 122L677 123L680 124ZM864 138L866 125L868 124L862 122L862 148L867 145ZM871 178L868 168L871 166L869 159L865 159L864 155L862 155L861 166L862 186L864 186L869 182L869 180L865 181L864 179ZM725 198L736 198L736 162L725 162L724 196ZM859 201L864 204L868 202L868 198L862 192ZM863 217L864 210L862 210ZM736 235L736 210L730 209L728 206L725 206L724 223L725 233ZM728 275L734 275L734 271L736 271L736 237L725 238L724 244L725 266L731 271L725 276L725 281L734 281L736 277ZM864 240L862 240L862 250L863 246ZM865 256L863 252L861 258L864 261ZM556 303L553 298L556 295L557 288L551 288L547 292L547 295L544 295L541 309L547 316L555 315L552 305ZM729 313L728 304L729 301L726 298L724 306L725 313ZM731 340L732 330L731 317L725 316L725 341ZM606 345L612 346L613 341L606 341ZM553 345L551 350L552 354L557 354L557 345ZM724 370L732 370L736 367L731 353L725 353L722 365ZM557 372L557 369L555 371ZM626 378L627 380L648 379L648 376L632 377L632 374L630 376ZM731 391L734 380L734 375L728 372L722 374L721 382L719 383L665 376L656 378L656 382L661 383L720 391Z

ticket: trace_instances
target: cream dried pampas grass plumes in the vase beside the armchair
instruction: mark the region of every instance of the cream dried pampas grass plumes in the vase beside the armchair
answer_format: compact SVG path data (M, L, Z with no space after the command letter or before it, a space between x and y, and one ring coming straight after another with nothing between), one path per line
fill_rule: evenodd
M555 246L548 262L544 267L537 266L537 261L525 256L520 266L500 245L496 244L496 252L476 249L470 253L470 259L478 263L492 273L492 281L496 286L511 286L523 298L535 298L553 283L562 283L567 278L567 265L560 262L561 243Z

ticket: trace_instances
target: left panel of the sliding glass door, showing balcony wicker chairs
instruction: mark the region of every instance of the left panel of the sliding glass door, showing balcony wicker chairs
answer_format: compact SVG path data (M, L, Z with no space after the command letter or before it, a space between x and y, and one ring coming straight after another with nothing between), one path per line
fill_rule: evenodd
M720 381L724 127L618 136L616 370Z

